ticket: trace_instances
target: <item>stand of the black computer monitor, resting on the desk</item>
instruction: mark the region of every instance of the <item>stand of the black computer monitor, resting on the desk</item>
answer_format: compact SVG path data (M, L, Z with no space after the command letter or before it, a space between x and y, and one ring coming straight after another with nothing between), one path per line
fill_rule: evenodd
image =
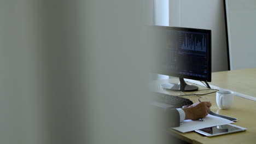
M179 83L165 83L161 85L162 88L170 89L172 91L190 92L197 91L198 87L188 85L183 78L179 77Z

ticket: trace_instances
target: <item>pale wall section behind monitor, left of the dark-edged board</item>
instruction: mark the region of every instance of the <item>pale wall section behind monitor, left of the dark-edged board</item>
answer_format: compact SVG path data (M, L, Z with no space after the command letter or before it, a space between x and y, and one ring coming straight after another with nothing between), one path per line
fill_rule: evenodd
M228 70L222 0L170 0L170 26L212 30L212 71Z

